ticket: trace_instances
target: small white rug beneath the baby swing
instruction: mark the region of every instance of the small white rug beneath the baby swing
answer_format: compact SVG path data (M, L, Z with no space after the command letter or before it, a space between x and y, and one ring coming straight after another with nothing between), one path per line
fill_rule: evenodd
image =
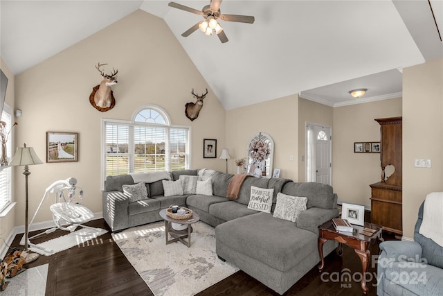
M39 243L30 247L29 250L45 256L51 256L57 252L68 250L71 247L99 244L100 242L95 240L98 239L98 236L105 233L107 233L107 230L101 228L82 228L64 236L45 241L44 243Z

